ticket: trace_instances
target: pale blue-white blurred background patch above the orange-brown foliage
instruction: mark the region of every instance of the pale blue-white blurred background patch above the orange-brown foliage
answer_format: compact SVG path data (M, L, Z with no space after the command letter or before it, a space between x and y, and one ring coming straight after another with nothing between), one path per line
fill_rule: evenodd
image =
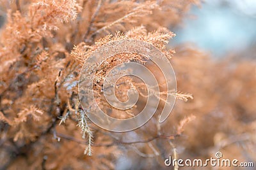
M188 15L171 29L177 34L172 45L190 43L214 57L246 52L256 45L255 0L205 0ZM255 57L255 51L246 57Z

